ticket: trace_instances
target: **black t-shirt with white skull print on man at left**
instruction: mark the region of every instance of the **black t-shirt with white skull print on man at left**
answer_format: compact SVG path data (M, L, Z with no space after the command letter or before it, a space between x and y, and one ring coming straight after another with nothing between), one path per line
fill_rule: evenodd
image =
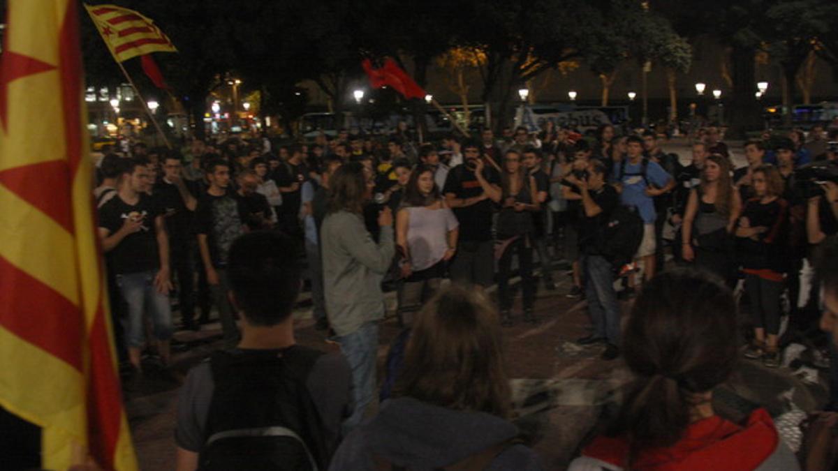
M127 204L116 194L99 209L99 227L113 235L122 228L125 220L142 220L142 227L137 232L127 235L106 255L109 267L117 274L157 271L160 269L160 256L157 244L157 232L154 220L162 212L154 199L147 194L140 194L137 204Z

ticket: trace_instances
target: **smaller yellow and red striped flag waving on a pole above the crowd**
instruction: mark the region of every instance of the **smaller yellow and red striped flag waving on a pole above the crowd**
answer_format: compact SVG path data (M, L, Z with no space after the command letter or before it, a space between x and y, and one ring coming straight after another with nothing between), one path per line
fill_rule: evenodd
M178 52L168 36L140 13L116 5L86 5L116 62L153 52Z

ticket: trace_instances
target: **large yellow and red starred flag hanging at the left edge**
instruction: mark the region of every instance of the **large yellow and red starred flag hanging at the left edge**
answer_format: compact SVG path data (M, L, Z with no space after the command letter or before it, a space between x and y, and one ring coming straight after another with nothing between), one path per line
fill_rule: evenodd
M39 427L42 468L91 457L136 469L94 224L78 4L8 0L3 47L0 406Z

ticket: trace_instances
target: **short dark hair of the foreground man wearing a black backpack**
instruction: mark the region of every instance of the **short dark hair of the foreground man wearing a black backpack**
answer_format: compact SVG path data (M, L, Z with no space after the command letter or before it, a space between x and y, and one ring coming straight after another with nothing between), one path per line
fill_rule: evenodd
M282 232L257 230L233 241L228 260L235 303L248 323L267 327L291 315L303 272L296 241Z

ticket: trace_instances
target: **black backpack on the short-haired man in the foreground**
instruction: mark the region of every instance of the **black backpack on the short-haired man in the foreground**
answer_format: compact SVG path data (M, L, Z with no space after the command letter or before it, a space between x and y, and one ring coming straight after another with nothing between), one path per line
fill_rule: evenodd
M321 355L301 346L213 353L199 470L327 468L323 422L306 388Z

